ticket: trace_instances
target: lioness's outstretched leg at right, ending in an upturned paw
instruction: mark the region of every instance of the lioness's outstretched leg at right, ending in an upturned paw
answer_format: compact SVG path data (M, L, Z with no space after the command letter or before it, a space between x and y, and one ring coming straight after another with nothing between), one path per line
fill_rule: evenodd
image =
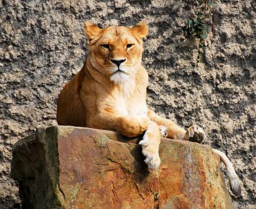
M168 135L167 137L170 139L182 139L182 140L190 140L193 142L203 142L204 139L204 131L199 126L191 126L186 131L182 127L179 127L174 122L162 118L158 116L154 111L148 110L147 112L148 117L150 117L151 121L156 122L158 125L163 125L167 127Z

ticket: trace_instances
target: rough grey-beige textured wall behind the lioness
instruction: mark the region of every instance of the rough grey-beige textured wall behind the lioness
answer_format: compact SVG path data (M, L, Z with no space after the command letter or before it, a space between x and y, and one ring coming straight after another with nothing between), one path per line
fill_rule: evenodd
M196 44L181 31L196 1L0 1L0 208L20 207L12 145L56 124L57 95L85 61L85 20L101 27L146 20L148 104L181 126L203 126L205 144L224 151L243 182L234 208L255 208L255 7L214 1L215 37L197 64Z

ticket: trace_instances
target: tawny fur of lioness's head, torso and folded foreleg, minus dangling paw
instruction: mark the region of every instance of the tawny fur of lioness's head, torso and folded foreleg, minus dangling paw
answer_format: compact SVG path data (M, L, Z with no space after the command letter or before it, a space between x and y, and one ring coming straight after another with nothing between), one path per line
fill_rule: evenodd
M57 122L118 130L127 137L141 134L150 122L146 116L148 75L141 65L142 39L147 36L147 25L142 22L132 28L110 26L101 29L86 22L85 33L89 53L84 67L59 95ZM112 59L125 59L119 71ZM142 114L144 116L138 118ZM123 127L117 127L121 125Z

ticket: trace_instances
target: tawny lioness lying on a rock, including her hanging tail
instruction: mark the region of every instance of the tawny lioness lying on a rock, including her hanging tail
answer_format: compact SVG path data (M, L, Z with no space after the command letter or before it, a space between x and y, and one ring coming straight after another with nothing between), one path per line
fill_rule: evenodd
M85 23L89 53L82 69L65 84L57 102L59 125L86 126L115 130L126 137L144 133L144 160L150 169L160 165L161 134L170 139L201 142L204 131L199 126L188 130L158 116L146 105L148 74L141 65L142 39L148 34L144 22L127 28L104 29ZM162 126L161 126L162 125ZM240 180L224 153L213 150L226 165L234 194L241 194Z

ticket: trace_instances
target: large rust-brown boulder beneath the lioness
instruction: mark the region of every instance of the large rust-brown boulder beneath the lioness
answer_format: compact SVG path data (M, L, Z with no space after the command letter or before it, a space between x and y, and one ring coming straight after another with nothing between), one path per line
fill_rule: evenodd
M12 173L23 208L232 208L209 147L163 138L162 163L152 172L135 140L72 126L39 128L19 140Z

